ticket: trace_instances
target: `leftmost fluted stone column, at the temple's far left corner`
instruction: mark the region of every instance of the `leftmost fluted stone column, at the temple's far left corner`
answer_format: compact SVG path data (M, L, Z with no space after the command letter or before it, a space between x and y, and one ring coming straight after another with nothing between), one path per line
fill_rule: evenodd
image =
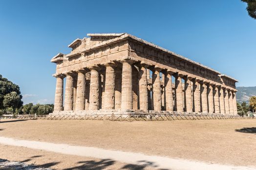
M54 112L59 112L63 110L63 78L64 76L57 75L56 77L56 90L55 90L55 100L54 100Z

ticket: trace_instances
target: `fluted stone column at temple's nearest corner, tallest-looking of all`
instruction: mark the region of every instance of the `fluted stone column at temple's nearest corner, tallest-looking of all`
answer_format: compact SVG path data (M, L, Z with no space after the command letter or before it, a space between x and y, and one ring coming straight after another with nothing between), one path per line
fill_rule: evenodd
M132 61L122 60L122 109L132 109Z

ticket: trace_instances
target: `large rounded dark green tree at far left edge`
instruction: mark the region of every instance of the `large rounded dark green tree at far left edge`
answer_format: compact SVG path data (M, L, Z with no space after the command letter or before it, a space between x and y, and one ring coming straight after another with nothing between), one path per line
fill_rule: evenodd
M12 109L21 108L23 102L21 101L21 91L19 85L15 85L6 78L0 75L0 109L8 112ZM11 109L10 109L11 108Z

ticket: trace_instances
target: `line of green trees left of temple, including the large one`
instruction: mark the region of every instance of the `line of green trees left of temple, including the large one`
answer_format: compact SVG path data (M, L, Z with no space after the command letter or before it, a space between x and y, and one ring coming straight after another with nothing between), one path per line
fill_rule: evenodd
M53 104L28 103L23 105L19 85L0 75L0 115L3 114L49 114L53 112Z

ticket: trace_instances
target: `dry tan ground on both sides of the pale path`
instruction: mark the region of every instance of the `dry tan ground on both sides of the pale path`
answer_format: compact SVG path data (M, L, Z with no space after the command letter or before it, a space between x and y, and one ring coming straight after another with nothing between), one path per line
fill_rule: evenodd
M3 120L0 123L0 136L161 155L209 163L255 166L256 162L255 119L151 122L12 119ZM21 161L25 158L29 159L29 156L35 156L34 154L38 152L20 148L21 152L17 153L15 148L1 145L0 157ZM2 149L6 152L2 152ZM7 152L9 149L13 152ZM26 156L22 154L25 152L22 150L27 150ZM40 155L42 154L52 154L50 162L59 162L67 157L67 155L58 153L40 153ZM16 158L13 157L14 155L17 155ZM47 163L45 158L38 163ZM76 159L74 158L74 160ZM101 161L84 157L80 159ZM68 160L70 159L66 158L66 161ZM79 161L74 161L76 164L77 162ZM59 166L57 169L63 169L60 167L61 165L63 164L56 165ZM115 163L114 166L124 166L124 164ZM68 167L64 166L64 168Z

